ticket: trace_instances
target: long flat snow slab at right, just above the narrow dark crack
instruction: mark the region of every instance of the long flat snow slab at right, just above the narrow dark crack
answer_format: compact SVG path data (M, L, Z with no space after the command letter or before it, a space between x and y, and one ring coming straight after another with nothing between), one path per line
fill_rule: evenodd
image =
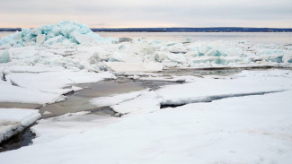
M243 71L225 79L197 78L195 82L164 86L157 94L164 99L162 104L181 105L291 89L291 71Z

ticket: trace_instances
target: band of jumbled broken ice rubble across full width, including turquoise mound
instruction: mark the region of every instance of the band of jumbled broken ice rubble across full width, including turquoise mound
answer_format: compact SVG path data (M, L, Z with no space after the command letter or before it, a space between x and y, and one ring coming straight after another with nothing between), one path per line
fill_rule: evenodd
M77 22L23 29L0 39L0 63L153 72L165 67L292 66L292 46L246 41L103 39Z

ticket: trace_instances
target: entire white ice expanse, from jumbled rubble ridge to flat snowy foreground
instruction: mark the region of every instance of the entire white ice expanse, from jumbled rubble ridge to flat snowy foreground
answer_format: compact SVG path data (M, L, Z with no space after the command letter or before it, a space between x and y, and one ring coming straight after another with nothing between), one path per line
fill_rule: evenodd
M120 40L104 39L77 22L0 39L0 103L54 103L83 90L78 83L119 76L177 82L154 91L84 97L122 117L81 112L41 119L31 127L33 144L0 153L1 164L292 162L290 45ZM164 74L173 67L239 73ZM267 67L274 69L242 71ZM38 110L0 108L0 140L38 118Z

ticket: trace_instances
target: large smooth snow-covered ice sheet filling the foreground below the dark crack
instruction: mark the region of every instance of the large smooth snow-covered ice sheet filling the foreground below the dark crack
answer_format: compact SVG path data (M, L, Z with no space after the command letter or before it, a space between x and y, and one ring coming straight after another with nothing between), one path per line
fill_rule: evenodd
M101 121L95 127L88 125L95 120L83 123L82 116L41 120L35 126L39 137L34 144L0 153L0 159L4 164L288 164L292 161L291 95L292 91L283 91L164 108L112 118L111 123Z

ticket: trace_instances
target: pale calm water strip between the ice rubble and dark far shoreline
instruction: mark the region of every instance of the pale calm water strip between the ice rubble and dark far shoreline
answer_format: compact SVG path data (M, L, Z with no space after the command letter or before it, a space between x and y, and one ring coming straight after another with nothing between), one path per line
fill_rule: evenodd
M0 31L0 38L13 34L11 31ZM104 38L131 38L184 41L198 40L245 40L252 43L292 44L292 32L96 32Z

